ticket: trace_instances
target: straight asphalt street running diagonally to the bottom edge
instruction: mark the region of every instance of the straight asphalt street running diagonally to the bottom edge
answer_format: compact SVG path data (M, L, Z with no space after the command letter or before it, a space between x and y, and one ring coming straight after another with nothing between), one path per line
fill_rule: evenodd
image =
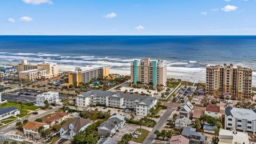
M153 130L148 134L148 137L143 141L142 144L148 144L153 142L156 136L154 134L155 130L160 130L161 127L163 127L164 123L167 121L167 119L169 118L173 111L174 109L167 109L165 111L164 115L159 119Z

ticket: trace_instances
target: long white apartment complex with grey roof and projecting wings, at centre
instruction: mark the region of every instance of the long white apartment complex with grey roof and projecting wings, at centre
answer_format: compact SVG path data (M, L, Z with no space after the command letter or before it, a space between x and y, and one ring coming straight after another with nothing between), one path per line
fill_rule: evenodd
M107 107L133 109L137 115L146 116L150 113L150 109L156 105L157 98L97 90L87 91L76 98L76 105L78 107L87 107L90 104L97 105L97 103Z

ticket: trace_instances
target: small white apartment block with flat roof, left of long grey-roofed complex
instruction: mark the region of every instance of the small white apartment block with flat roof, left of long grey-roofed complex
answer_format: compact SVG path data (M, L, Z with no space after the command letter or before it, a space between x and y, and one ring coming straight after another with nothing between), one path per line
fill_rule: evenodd
M58 103L59 92L49 91L36 95L36 106L44 107L45 100L48 100L49 103Z

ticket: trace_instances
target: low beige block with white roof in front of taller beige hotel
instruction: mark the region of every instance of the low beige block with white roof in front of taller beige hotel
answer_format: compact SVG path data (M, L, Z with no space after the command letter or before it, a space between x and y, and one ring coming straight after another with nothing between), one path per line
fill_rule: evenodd
M19 72L19 78L26 79L27 81L34 81L36 79L41 79L47 75L47 70L42 69L31 69Z

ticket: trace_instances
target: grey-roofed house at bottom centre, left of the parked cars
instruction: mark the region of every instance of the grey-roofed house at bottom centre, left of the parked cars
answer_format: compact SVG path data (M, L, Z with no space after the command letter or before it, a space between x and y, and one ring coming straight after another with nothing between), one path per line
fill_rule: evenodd
M100 136L112 137L116 132L123 129L125 125L125 119L123 116L116 114L107 119L107 121L100 124L98 127L98 133Z

